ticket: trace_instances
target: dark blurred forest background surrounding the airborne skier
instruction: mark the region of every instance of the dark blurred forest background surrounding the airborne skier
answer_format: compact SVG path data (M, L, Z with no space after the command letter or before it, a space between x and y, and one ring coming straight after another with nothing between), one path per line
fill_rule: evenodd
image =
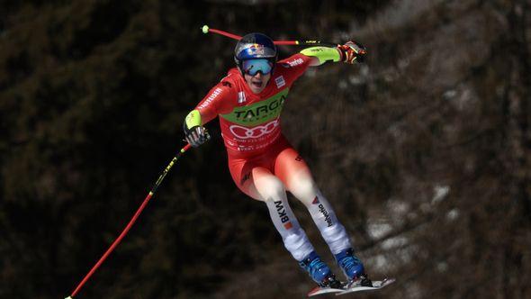
M233 67L235 41L202 34L204 23L365 44L365 65L311 68L283 116L370 276L398 279L356 298L530 298L530 6L2 1L0 298L66 297L130 220L184 145L184 115ZM219 135L217 121L208 128ZM302 298L312 287L266 205L233 184L218 136L177 162L76 297Z

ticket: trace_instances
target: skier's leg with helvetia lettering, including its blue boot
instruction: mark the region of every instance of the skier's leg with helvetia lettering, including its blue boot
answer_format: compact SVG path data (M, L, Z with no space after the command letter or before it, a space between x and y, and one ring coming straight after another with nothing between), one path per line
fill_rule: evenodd
M345 227L338 221L329 201L320 193L310 169L295 149L284 149L277 156L275 175L306 206L348 279L362 278L361 282L369 285L363 263L354 255Z

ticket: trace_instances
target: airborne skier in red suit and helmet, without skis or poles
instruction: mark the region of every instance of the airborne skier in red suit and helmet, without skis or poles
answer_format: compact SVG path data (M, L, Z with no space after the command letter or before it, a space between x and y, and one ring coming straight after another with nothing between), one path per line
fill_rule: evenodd
M277 61L274 41L261 33L249 33L234 50L237 68L229 69L184 120L185 139L198 147L210 138L204 124L220 117L234 182L246 195L266 203L285 248L320 287L338 288L341 283L313 249L288 204L286 191L311 213L350 284L372 283L310 169L284 138L279 118L293 82L307 68L327 61L353 64L364 56L363 46L348 41L334 48L311 47Z

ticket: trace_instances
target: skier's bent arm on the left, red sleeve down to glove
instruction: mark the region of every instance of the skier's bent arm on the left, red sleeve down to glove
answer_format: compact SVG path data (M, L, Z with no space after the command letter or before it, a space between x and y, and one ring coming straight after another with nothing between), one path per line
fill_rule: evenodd
M204 124L216 118L218 114L226 113L228 107L225 107L225 103L229 103L226 98L229 98L230 93L230 87L220 82L184 118L184 138L194 148L199 147L202 143L210 139L210 135L204 128Z

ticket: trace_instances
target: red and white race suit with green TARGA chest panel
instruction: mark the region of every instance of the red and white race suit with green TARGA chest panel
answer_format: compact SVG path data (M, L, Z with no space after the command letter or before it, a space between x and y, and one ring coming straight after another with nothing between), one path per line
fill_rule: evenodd
M245 194L266 202L286 249L297 260L313 247L293 215L286 191L306 205L334 254L350 248L347 232L315 185L310 169L281 131L280 113L288 92L310 62L300 53L280 60L259 94L251 91L237 68L231 68L195 107L202 124L220 117L234 182Z

